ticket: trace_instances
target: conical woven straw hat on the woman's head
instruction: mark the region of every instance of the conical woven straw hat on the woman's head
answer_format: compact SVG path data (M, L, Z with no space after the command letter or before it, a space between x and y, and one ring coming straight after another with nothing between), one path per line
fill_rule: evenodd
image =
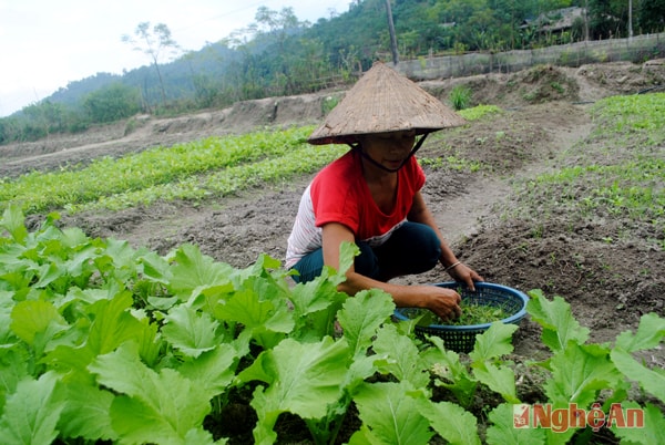
M415 82L377 62L307 141L315 145L352 144L361 134L407 130L424 134L464 123Z

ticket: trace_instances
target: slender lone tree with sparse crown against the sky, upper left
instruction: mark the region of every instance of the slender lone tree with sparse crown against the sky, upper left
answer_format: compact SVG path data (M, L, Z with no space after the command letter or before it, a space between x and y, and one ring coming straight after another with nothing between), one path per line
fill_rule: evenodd
M160 90L162 92L162 103L166 103L166 91L164 89L164 80L160 71L160 58L164 50L171 51L173 54L180 52L180 45L171 37L171 30L164 23L155 24L152 30L150 29L150 22L141 22L134 30L134 35L139 41L129 34L122 35L124 43L134 45L134 51L141 51L149 55L152 60L155 70L157 71L157 77L160 80Z

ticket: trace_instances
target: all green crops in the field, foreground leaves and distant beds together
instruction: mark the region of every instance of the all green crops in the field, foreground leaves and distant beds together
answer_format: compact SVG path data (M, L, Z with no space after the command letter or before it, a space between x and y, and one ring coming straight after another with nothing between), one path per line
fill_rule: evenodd
M628 215L665 248L665 94L611 97L592 114L603 143L560 154L560 168L525 183L512 211L533 214L538 200L548 211ZM348 149L306 149L310 132L206 138L0 182L2 444L222 444L238 404L253 413L250 439L260 444L279 443L287 415L316 444L336 443L350 417L350 444L581 443L595 427L621 443L665 443L665 373L640 359L665 340L656 313L595 343L563 298L530 291L548 358L528 365L543 375L539 404L554 411L540 412L539 427L515 427L515 406L532 403L518 391L525 364L511 359L518 327L494 322L469 354L421 340L416 321L392 319L389 294L337 291L354 245L342 246L339 271L290 286L266 255L238 269L194 245L158 255L58 227L59 213L288 180ZM638 149L621 151L635 138ZM30 214L48 216L28 229ZM647 397L636 400L633 384ZM589 414L584 425L563 417L572 406Z

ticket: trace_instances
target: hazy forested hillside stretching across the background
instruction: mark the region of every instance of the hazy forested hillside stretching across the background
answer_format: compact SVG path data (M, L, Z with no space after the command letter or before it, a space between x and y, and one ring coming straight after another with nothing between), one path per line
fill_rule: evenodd
M374 61L395 56L500 52L665 30L665 0L390 0L395 39L387 10L387 0L357 0L348 11L309 23L291 8L260 7L246 28L173 60L151 59L157 50L178 49L168 23L140 23L136 37L149 34L163 46L144 49L145 66L72 81L0 118L0 144L136 113L178 114L320 91L350 84Z

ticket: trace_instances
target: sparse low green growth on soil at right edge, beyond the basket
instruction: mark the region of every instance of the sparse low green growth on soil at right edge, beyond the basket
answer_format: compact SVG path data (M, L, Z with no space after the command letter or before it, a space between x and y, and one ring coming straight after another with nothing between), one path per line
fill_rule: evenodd
M520 185L512 215L630 218L665 248L665 94L613 96L592 110L596 131L556 159L562 167Z

